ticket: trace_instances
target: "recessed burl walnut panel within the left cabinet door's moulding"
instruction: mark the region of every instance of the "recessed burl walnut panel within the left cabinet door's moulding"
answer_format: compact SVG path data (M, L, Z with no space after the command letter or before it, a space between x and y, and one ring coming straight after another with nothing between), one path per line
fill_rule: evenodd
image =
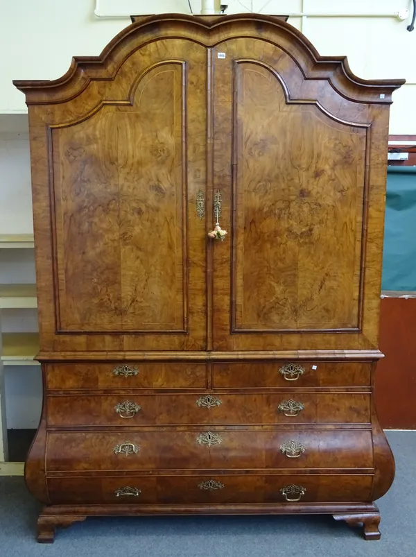
M183 71L157 65L132 109L52 130L64 331L185 329Z

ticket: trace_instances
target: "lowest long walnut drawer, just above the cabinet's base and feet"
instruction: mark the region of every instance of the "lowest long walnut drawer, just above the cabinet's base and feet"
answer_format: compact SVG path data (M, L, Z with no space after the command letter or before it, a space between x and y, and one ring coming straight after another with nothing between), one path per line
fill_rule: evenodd
M372 475L49 477L52 504L250 504L370 501Z

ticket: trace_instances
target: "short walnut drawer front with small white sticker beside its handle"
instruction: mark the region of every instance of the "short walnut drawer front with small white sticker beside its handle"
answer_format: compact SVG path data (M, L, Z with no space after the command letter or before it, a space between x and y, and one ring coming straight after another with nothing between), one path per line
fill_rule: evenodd
M214 388L370 386L367 362L214 363Z

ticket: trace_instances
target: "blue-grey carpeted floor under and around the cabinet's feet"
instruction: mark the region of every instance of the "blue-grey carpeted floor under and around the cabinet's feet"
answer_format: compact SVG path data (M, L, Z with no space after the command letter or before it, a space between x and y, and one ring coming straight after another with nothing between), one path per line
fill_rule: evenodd
M381 540L329 516L89 518L35 542L40 506L22 478L0 477L2 557L416 557L416 432L391 431L397 474L379 500Z

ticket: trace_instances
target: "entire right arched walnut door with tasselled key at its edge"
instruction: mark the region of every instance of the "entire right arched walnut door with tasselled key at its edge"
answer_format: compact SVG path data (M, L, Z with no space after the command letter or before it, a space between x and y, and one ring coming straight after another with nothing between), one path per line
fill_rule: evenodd
M369 106L306 80L302 62L261 40L213 56L213 189L228 231L210 247L214 348L371 348Z

